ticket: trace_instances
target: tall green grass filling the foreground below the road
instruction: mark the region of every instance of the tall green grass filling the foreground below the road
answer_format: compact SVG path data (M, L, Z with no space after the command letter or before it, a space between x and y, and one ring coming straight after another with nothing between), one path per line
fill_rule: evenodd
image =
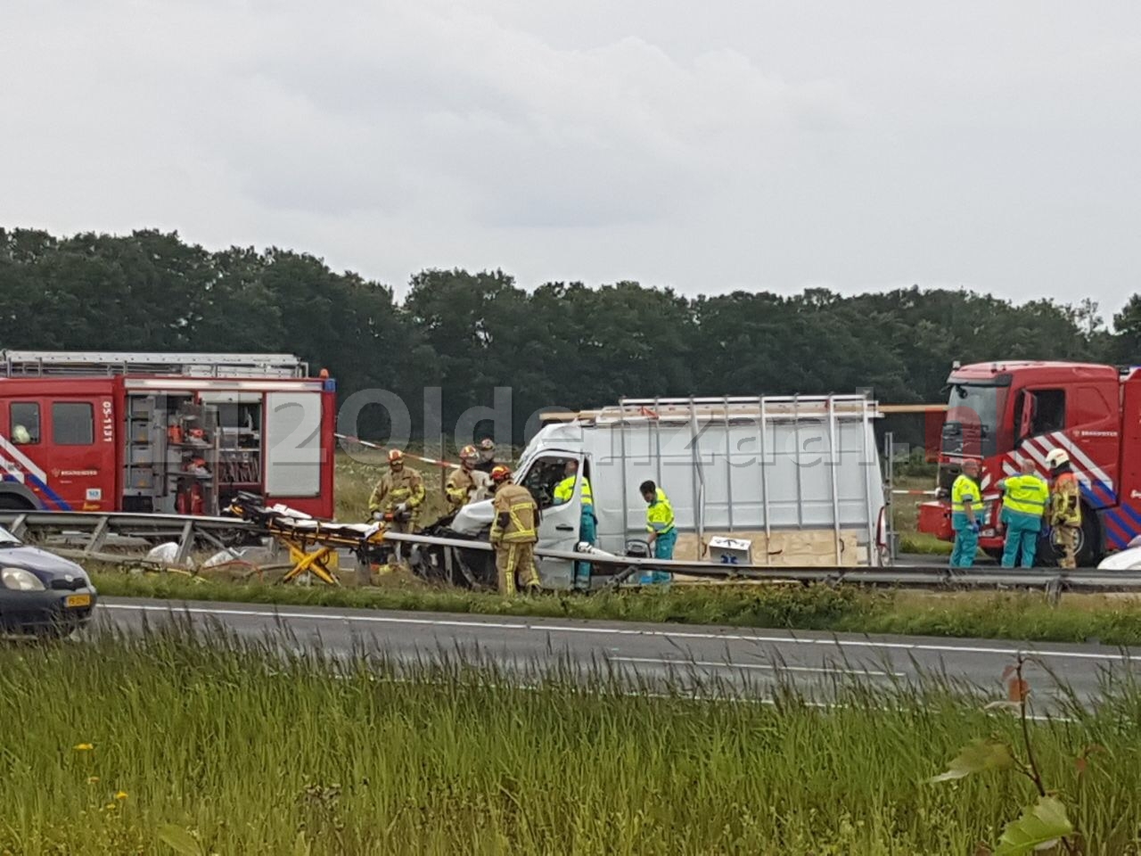
M1029 800L1012 777L923 784L972 737L1017 738L946 688L853 687L820 710L282 641L176 628L0 649L0 850L955 854ZM1135 841L1139 718L1127 688L1033 728L1090 853Z

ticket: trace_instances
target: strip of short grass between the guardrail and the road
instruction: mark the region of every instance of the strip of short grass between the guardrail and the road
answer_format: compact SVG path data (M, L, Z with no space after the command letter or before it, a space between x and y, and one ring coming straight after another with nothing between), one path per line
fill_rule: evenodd
M1051 606L1033 593L743 586L509 599L421 587L337 589L98 572L94 579L113 597L1141 645L1141 603L1108 596L1067 595Z

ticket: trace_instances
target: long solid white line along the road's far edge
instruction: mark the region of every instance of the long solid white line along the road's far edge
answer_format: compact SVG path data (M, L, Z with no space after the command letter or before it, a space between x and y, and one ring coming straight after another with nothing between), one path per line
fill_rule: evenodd
M343 621L365 624L412 624L420 627L448 627L489 630L516 630L541 633L584 633L594 636L649 636L666 639L702 639L711 641L747 641L766 645L832 645L849 648L879 648L884 651L923 651L947 654L998 654L1015 657L1019 654L1037 657L1068 657L1071 660L1108 660L1118 663L1132 663L1136 657L1130 653L1111 654L1109 652L1091 651L1052 651L1035 648L997 648L984 645L936 645L933 643L891 643L875 639L811 639L787 636L748 636L745 633L702 633L687 630L644 630L636 628L598 628L574 627L569 624L519 624L500 621L466 621L462 619L412 619L390 615L343 615L305 612L267 612L264 609L203 608L201 606L154 606L149 604L107 604L100 609L123 609L127 612L161 612L168 614L189 615L236 615L254 619L285 619L298 621Z

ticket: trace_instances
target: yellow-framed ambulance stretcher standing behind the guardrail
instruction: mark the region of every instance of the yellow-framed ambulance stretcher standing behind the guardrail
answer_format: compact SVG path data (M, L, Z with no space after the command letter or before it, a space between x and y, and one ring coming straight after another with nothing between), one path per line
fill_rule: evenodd
M353 550L364 563L382 552L383 523L329 523L286 506L265 506L261 496L246 493L240 493L226 510L289 547L293 567L283 582L310 573L330 586L340 586L335 573L338 548Z

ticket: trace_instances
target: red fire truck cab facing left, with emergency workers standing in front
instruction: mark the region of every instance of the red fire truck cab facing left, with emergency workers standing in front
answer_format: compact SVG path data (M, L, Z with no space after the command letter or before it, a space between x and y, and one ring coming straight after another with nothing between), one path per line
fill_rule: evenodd
M939 447L940 499L920 508L920 531L953 540L952 482L968 458L981 461L987 517L980 547L1002 550L996 483L1029 457L1049 475L1046 454L1069 453L1082 485L1078 564L1093 565L1141 533L1141 368L1060 362L955 368ZM1043 539L1038 559L1057 558Z

